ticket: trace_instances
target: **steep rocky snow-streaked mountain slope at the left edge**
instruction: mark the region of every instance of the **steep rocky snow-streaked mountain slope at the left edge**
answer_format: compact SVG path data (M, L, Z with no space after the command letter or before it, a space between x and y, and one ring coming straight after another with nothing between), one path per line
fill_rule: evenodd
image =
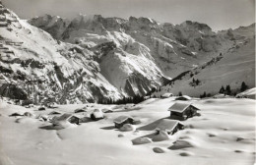
M0 66L2 84L14 83L34 102L87 102L121 93L99 73L93 52L52 36L1 5ZM8 85L1 94L8 96Z

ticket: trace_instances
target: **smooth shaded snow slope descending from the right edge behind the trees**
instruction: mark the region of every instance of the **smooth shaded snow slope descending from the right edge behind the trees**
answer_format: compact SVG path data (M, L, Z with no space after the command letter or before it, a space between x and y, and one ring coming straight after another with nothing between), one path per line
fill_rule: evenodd
M234 44L224 54L213 58L208 63L188 71L179 79L161 87L154 93L158 96L168 91L178 94L199 96L206 93L216 94L222 85L229 84L233 93L238 93L241 83L245 82L250 88L255 86L255 32L254 26L241 27L232 30ZM224 31L222 31L224 32ZM230 31L226 30L225 34ZM235 39L236 38L236 39ZM194 80L194 83L193 83ZM199 81L196 83L196 81Z

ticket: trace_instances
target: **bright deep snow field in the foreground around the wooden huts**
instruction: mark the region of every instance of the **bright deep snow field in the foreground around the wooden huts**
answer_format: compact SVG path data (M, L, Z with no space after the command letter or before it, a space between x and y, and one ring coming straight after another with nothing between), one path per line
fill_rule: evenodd
M246 98L193 99L201 116L182 123L185 129L169 139L151 143L132 143L132 139L154 138L154 125L169 117L173 98L151 98L137 105L59 105L56 109L0 102L1 165L251 165L255 162L255 100ZM74 113L88 106L88 116L96 108L112 109L105 118L65 129L52 128L35 117L9 117L31 112L34 116L51 111ZM141 121L137 131L120 132L113 119L130 115ZM54 115L48 115L54 116ZM122 136L121 136L122 135ZM175 144L173 142L176 142ZM174 145L174 146L173 146ZM162 153L158 153L162 152Z

